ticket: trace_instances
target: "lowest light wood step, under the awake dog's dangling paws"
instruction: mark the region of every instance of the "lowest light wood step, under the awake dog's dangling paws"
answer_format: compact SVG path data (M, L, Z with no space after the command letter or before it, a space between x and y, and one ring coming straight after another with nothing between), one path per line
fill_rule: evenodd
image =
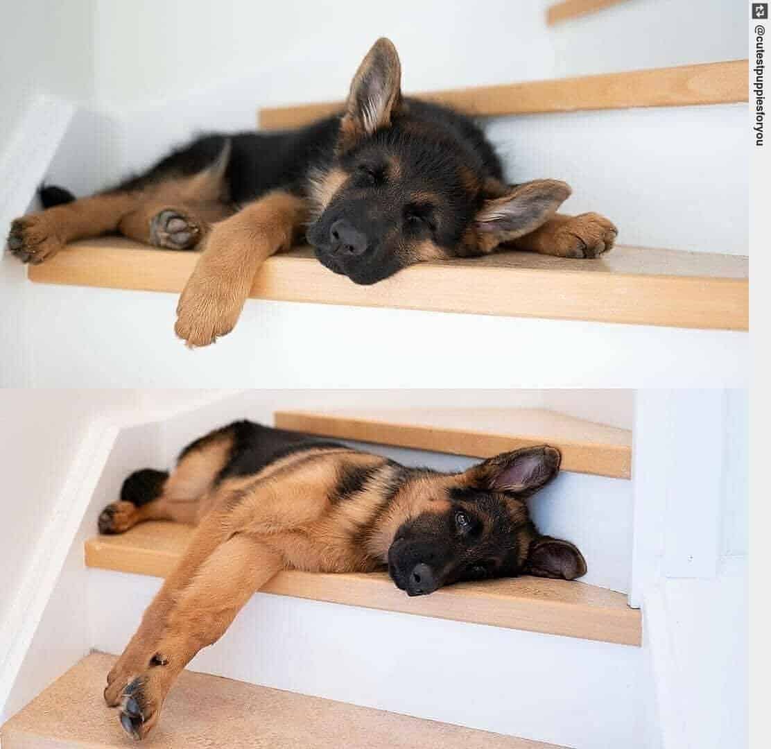
M104 703L116 659L92 653L0 730L3 749L128 747L118 711ZM527 741L385 710L184 671L147 746L163 749L548 749Z

